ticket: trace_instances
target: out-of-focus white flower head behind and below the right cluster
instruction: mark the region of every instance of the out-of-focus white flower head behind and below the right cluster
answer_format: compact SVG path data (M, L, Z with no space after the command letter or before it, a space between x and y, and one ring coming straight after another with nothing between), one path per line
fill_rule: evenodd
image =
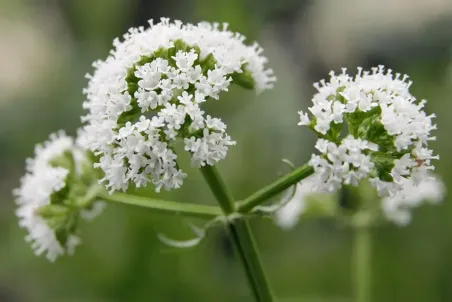
M295 191L287 191L290 198L283 198L284 206L274 216L274 221L280 228L293 229L307 214L319 217L338 217L341 214L337 196L318 190L318 177L317 174L311 175L297 183L293 188ZM370 223L389 221L398 226L407 226L411 223L413 209L424 204L439 204L446 194L444 183L432 175L417 186L410 179L403 179L401 185L402 189L393 196L360 201L361 204L366 204L364 208Z

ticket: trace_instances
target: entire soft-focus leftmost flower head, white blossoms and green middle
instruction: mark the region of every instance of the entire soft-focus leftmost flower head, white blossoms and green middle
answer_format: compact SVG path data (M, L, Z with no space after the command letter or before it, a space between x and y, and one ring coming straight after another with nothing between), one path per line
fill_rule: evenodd
M68 206L72 200L66 199L76 197L71 190L83 188L75 178L92 165L84 154L64 132L50 135L48 141L36 146L34 158L27 159L26 174L13 191L19 225L28 232L26 240L37 255L45 253L52 262L72 254L81 242L75 234L78 211L74 212L75 205ZM95 214L99 213L100 209Z

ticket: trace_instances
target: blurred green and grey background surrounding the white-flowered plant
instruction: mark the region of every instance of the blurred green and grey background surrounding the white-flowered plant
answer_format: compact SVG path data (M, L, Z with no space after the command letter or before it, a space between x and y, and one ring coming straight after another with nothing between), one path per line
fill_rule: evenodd
M0 302L251 301L242 268L221 228L202 244L173 251L157 232L192 234L180 217L110 205L82 228L73 257L34 256L14 215L12 188L33 146L60 128L75 134L91 62L113 38L162 16L230 23L258 40L278 77L259 97L234 88L207 111L222 117L238 145L219 169L237 198L304 163L314 136L296 126L312 82L340 66L385 64L414 81L436 112L438 174L452 183L452 1L436 0L2 0L0 1ZM449 133L449 134L448 134ZM164 198L214 203L200 174ZM153 196L152 189L139 194ZM421 207L406 228L374 230L374 301L452 301L452 204ZM283 232L253 220L280 301L352 301L348 229L304 221Z

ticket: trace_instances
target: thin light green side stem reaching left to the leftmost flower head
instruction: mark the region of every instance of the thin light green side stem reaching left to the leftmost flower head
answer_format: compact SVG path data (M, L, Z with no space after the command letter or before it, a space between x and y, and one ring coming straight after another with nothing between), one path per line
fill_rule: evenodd
M149 208L160 213L180 214L197 218L215 218L223 215L219 207L200 204L182 203L176 201L152 199L141 196L134 196L125 193L100 192L97 197L110 202L124 203L140 207Z

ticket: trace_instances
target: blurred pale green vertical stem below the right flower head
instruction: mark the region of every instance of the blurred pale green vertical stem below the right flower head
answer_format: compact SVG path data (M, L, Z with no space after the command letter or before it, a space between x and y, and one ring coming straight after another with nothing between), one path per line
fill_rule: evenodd
M356 302L371 301L371 252L372 238L368 226L355 225L355 299Z

